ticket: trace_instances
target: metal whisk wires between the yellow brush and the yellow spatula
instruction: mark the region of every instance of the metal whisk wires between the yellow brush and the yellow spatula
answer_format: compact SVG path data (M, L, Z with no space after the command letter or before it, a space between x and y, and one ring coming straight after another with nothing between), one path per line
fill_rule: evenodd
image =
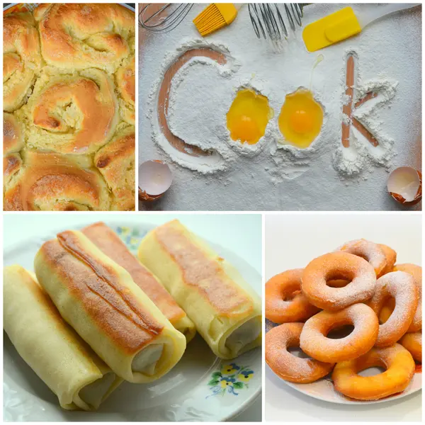
M302 6L297 3L290 4L248 4L249 17L257 38L269 38L280 41L288 37L285 20L280 13L279 6L284 6L290 28L295 31L296 26L301 26Z

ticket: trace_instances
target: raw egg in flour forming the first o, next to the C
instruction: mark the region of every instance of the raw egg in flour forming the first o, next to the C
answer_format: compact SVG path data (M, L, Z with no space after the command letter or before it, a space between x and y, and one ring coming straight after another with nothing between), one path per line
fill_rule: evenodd
M266 132L271 118L273 109L268 106L268 98L243 89L237 92L227 112L227 129L232 140L255 145Z

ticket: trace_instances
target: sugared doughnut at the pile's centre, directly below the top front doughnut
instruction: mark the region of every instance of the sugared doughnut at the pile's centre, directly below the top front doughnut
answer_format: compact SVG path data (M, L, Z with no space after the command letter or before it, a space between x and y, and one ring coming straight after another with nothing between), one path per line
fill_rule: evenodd
M327 337L332 329L352 324L354 329L345 338ZM367 353L375 344L379 322L365 304L354 304L339 312L319 312L305 322L300 347L312 358L327 363L351 360Z

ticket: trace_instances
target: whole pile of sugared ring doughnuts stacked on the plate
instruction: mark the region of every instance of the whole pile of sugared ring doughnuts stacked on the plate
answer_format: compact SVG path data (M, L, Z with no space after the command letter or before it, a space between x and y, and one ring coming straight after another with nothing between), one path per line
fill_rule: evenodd
M266 334L274 373L298 383L331 373L336 391L359 400L404 391L422 358L422 270L396 259L389 246L358 239L268 280L266 318L280 324ZM360 375L374 366L385 371Z

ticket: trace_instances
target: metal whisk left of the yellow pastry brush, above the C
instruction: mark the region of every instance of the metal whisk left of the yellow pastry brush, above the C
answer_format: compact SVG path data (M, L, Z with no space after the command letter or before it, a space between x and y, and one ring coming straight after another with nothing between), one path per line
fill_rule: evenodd
M139 13L139 25L151 33L174 30L191 11L192 3L147 4Z

